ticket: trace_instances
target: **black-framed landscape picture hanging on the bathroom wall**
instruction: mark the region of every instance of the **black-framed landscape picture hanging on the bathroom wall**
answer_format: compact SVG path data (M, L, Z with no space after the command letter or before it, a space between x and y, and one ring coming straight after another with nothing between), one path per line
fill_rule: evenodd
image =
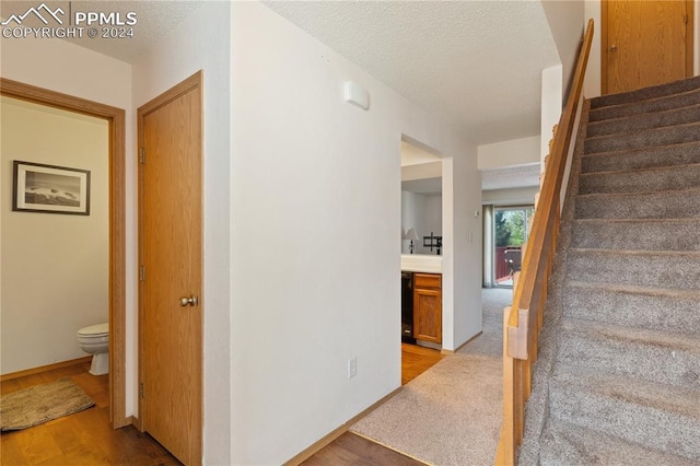
M12 210L90 215L90 171L14 161Z

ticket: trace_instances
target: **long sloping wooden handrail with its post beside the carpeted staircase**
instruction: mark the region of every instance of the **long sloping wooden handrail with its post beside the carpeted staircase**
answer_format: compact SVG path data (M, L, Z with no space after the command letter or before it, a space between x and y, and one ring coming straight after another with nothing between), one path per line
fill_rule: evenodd
M524 247L522 270L514 286L513 306L506 307L503 316L503 424L497 465L515 464L515 452L523 440L530 370L537 360L537 339L559 233L561 185L592 40L593 20L588 20L567 106L549 144L550 153L535 218Z

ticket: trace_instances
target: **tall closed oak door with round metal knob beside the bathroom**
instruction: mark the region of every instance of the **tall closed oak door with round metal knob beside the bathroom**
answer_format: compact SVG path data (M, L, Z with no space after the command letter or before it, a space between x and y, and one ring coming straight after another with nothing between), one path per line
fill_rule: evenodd
M201 463L201 125L200 73L139 108L141 428L188 465Z

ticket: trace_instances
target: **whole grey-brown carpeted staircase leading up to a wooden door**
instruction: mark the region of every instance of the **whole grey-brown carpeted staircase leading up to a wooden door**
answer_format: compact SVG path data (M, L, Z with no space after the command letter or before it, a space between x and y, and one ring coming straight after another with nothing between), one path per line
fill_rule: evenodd
M586 113L518 464L698 465L700 78Z

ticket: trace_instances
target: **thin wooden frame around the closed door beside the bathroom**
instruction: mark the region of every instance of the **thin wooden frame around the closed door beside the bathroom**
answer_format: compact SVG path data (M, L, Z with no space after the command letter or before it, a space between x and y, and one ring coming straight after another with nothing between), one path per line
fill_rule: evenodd
M200 98L202 100L200 102L200 107L203 112L203 71L199 70L196 73L194 73L192 75L190 75L189 78L185 79L184 81L182 81L179 84L176 84L175 86L168 89L167 91L163 92L162 94L160 94L159 96L152 98L151 101L147 102L145 104L141 105L138 110L137 110L137 125L138 125L138 147L139 147L139 152L141 151L142 148L144 148L144 141L143 141L143 135L144 135L144 121L145 121L145 116L150 113L152 113L153 110L168 104L170 102L176 100L177 97L179 97L183 94L186 94L187 92L189 92L192 89L199 88L201 90L201 96ZM200 163L202 164L202 176L203 176L203 154L205 154L205 150L203 150L203 115L200 115L200 131L202 135L201 138L201 147L199 149L199 153L200 153ZM203 183L201 185L201 188L203 189ZM138 176L138 203L139 203L139 209L138 209L138 215L139 215L139 233L138 233L138 251L139 251L139 266L141 266L143 264L143 244L144 244L144 232L143 232L143 165L141 163L139 163L139 176ZM202 200L203 203L203 191L200 193L200 199ZM203 214L203 206L202 206L202 214ZM203 252L203 219L202 219L202 236L200 238L200 243L201 243L201 277L203 280L205 273L205 252ZM203 330L203 323L205 323L205 296L203 296L203 288L201 289L200 295L199 295L199 306L201 308L200 312L200 319L201 319L201 325L200 328ZM143 335L143 322L144 322L144 308L143 308L143 281L141 279L139 279L139 353L138 353L138 361L139 361L139 387L142 387L143 385L143 378L144 378L144 335ZM201 354L200 354L200 359L202 361L202 365L201 365L201 378L199 381L201 389L200 389L200 399L199 399L199 419L198 419L198 423L199 423L199 429L197 430L197 432L194 432L194 443L195 443L195 457L200 458L199 461L201 461L202 458L202 453L203 453L203 335L200 335L200 349L201 349ZM141 388L139 388L139 395L138 395L138 400L139 400L139 420L138 420L138 424L137 427L139 428L139 430L141 432L143 432L144 430L144 416L143 413L143 398L141 397Z

